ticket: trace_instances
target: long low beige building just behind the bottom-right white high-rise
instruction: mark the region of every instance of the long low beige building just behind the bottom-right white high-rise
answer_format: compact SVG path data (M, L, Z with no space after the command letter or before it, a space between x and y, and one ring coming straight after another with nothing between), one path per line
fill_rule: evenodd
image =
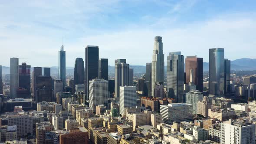
M234 110L208 109L208 116L210 118L217 118L220 121L226 121L230 118L235 118L236 114Z

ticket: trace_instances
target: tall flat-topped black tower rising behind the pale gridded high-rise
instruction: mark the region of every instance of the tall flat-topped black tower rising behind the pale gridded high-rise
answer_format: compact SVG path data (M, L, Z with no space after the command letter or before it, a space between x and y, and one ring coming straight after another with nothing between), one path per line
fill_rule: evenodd
M89 99L89 81L98 78L98 46L85 48L85 95Z

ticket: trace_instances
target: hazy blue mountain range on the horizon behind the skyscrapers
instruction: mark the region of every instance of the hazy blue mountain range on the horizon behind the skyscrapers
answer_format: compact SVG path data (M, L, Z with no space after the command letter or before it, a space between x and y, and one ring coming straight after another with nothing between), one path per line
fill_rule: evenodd
M134 73L145 73L146 72L146 66L144 65L130 65L130 68L134 69ZM31 71L33 68L31 69ZM209 70L209 62L203 62L203 71L206 72ZM244 71L251 71L256 70L256 59L249 59L249 58L242 58L242 59L236 59L231 61L231 70L244 70ZM166 66L165 66L166 71ZM74 72L73 67L66 67L66 73L72 74ZM108 65L108 72L109 73L115 73L115 66ZM9 74L10 68L7 66L3 66L3 74ZM58 67L52 66L51 67L51 73L57 74L58 73Z

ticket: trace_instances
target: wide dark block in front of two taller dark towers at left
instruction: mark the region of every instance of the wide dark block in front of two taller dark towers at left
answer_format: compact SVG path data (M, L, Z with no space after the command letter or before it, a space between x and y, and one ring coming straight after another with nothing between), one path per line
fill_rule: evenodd
M52 100L52 77L36 76L34 101Z

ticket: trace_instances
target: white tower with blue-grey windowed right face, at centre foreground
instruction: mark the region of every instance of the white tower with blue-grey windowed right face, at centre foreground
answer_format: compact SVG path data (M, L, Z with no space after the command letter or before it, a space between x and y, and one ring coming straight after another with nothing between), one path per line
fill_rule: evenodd
M125 108L136 106L136 87L135 86L120 86L120 115L124 117Z

